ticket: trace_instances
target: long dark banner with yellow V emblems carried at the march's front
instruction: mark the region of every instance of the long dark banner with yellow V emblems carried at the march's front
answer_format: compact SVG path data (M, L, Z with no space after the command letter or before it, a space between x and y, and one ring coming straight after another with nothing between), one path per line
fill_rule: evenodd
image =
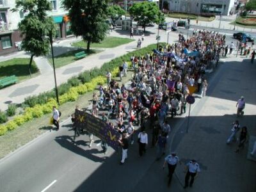
M78 129L86 129L86 131L92 133L93 135L108 143L108 145L113 149L118 150L118 139L120 137L119 132L113 129L110 125L108 125L100 118L86 113L85 111L80 111L76 109L75 126Z

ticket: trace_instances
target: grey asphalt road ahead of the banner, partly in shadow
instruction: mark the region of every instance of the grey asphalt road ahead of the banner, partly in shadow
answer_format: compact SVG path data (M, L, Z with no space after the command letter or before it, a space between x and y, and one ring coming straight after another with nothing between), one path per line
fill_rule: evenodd
M229 67L234 68L232 65ZM231 70L230 76L232 72L237 76L236 68ZM209 93L213 96L216 91L221 91L218 87L227 80L224 75L225 72L221 70L214 73L213 77L218 77L218 81L214 81L209 88ZM236 85L233 86L236 88ZM243 92L251 95L250 99L253 100L255 92L250 93L251 90L243 90ZM237 98L237 95L235 96ZM227 99L234 101L235 97L233 95L232 98ZM204 109L204 102L205 100L196 99L191 113ZM220 113L221 110L223 109L212 111L212 115ZM175 148L182 147L183 143L179 140L180 135L177 130L184 129L186 119L174 118L170 120L170 124L173 129L170 142L173 139ZM150 131L148 133L150 135ZM167 169L162 169L163 159L155 161L156 148L149 147L147 154L139 157L138 144L134 143L129 148L129 159L124 165L120 165L120 152L110 148L108 154L104 155L102 148L97 146L100 141L97 138L93 147L89 148L86 134L77 138L77 145L72 143L72 136L74 132L71 130L71 122L67 120L60 131L47 132L12 156L1 160L0 191L183 191L182 177L179 179L173 177L172 186L167 187ZM182 152L189 153L185 150ZM211 178L211 175L205 175L206 177ZM222 175L221 179L225 182L230 181L225 175ZM246 180L244 182L253 183L253 177ZM199 191L207 191L207 188Z

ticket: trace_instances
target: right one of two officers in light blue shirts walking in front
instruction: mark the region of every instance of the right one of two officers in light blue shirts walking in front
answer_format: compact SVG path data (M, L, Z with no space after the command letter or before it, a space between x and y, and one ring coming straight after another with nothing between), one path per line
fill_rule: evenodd
M189 161L189 163L186 164L185 171L186 177L185 177L185 186L183 187L184 189L188 188L188 182L189 182L189 177L191 177L191 180L189 182L189 187L191 188L193 186L193 182L195 177L198 176L198 173L200 172L200 167L199 164L196 163L196 160L193 159L192 161Z

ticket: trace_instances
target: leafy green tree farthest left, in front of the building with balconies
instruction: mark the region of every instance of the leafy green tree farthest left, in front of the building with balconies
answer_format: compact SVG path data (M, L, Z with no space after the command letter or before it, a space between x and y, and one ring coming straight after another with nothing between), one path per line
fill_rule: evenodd
M46 12L51 11L51 4L47 0L17 0L12 12L28 12L28 15L19 22L20 36L24 37L21 48L31 53L29 62L29 74L33 56L41 56L49 53L49 39L44 36L55 31L51 17Z

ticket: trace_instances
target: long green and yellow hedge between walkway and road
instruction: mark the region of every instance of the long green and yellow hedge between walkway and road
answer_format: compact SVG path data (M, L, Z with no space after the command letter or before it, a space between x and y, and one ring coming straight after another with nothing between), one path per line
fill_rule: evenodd
M98 84L106 83L105 74L109 70L113 76L118 76L118 67L124 60L129 61L131 56L144 56L148 52L152 52L152 49L156 48L156 44L148 45L145 48L129 52L124 56L115 58L114 60L104 63L100 68L93 68L92 70L84 71L77 77L71 77L67 83L63 83L59 86L60 104L65 102L75 101L79 95L83 95L86 92L92 92ZM0 125L0 136L6 134L7 131L16 129L20 125L32 120L33 118L39 118L42 115L52 112L52 106L58 106L55 100L54 90L50 92L40 93L37 96L27 97L24 101L27 107L22 115L15 116L13 120L10 120L7 124ZM5 113L3 113L5 114Z

